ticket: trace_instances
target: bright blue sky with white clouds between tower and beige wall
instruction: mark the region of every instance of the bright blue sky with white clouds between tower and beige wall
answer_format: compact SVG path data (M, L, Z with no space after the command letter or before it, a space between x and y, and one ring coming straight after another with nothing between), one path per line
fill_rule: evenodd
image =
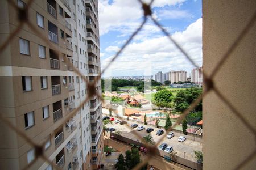
M157 19L201 66L201 1L156 0L152 5ZM136 0L99 1L101 68L135 31L143 18ZM187 70L191 63L148 20L141 32L123 51L105 76L151 75L157 71Z

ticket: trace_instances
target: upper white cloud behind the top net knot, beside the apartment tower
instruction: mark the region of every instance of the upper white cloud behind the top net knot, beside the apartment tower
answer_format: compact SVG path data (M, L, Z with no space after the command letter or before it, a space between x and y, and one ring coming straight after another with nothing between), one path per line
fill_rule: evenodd
M152 7L164 7L181 5L185 0L157 0L154 1ZM112 31L134 31L139 21L143 17L143 10L138 0L113 0L109 4L108 0L100 0L98 2L99 8L99 24L100 35ZM146 2L146 1L145 1ZM154 13L154 18L158 16Z

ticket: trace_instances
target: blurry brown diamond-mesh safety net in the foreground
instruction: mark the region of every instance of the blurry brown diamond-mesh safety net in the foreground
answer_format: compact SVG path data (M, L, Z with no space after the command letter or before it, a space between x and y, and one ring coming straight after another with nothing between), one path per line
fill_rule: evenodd
M152 22L154 22L154 24L162 30L164 35L166 35L168 37L168 39L170 40L170 43L174 44L176 46L176 48L179 49L180 52L183 53L183 55L192 63L193 66L199 67L199 66L196 65L196 63L189 56L188 52L186 52L183 49L183 47L180 46L176 42L176 40L172 38L170 33L168 33L164 27L162 27L162 25L158 22L158 20L156 20L155 18L152 17L151 4L153 3L154 0L152 0L148 4L143 3L142 0L138 0L138 1L141 3L141 6L142 6L143 11L144 11L144 18L142 20L141 25L138 27L138 29L136 31L134 31L131 34L129 39L127 39L127 41L122 45L121 49L112 58L112 61L109 62L108 65L106 65L106 67L101 71L101 74L103 74L105 72L105 70L108 69L109 66L118 58L118 56L123 52L123 50L127 47L127 45L129 45L129 43L133 40L134 36L137 35L138 32L140 32L142 30L143 26L145 25L145 23L147 22L148 19L151 19ZM42 39L42 41L46 42L46 44L51 49L54 50L53 53L55 53L55 55L58 55L57 52L59 52L59 49L56 49L56 47L53 44L51 44L51 42L50 42L50 40L57 42L55 37L51 36L51 39L49 40L49 37L42 35L42 33L40 33L39 29L36 28L34 26L34 24L31 23L31 20L29 20L28 17L27 17L28 15L30 15L28 11L29 11L29 9L31 7L31 4L33 3L33 0L28 0L27 1L27 5L23 9L18 7L18 5L16 3L17 1L11 1L10 0L10 1L7 1L7 2L9 3L9 5L11 5L13 8L15 8L17 14L19 14L19 15L17 15L18 19L19 19L19 24L14 29L13 32L10 32L9 37L7 37L7 39L4 40L3 43L0 45L0 52L3 52L3 50L9 45L9 42L12 41L14 39L15 35L20 32L20 30L22 29L22 27L24 25L26 25L28 28L31 29L31 31L35 35L40 37L40 39ZM54 16L56 18L56 15L57 15L56 13L57 12L51 7L51 5L47 4L47 10L48 10L48 12L50 12L50 14L52 16ZM247 127L247 129L249 131L251 131L251 133L253 135L256 136L256 130L253 128L253 126L248 124L246 119L236 109L236 107L234 107L234 105L232 103L230 103L230 101L225 97L224 94L221 94L221 92L218 90L218 88L214 86L214 81L213 81L213 78L217 75L217 73L220 71L221 67L224 65L224 63L227 61L227 59L230 57L230 54L237 48L237 46L240 44L240 42L243 39L243 37L245 37L247 32L249 32L249 30L253 27L255 20L256 20L256 13L252 16L252 18L250 19L250 22L247 23L247 25L245 25L243 31L240 33L240 35L237 36L237 39L233 42L232 46L230 46L230 48L226 51L224 56L222 56L222 59L218 62L216 67L213 69L212 74L205 75L204 72L203 72L204 87L205 87L205 90L203 91L203 94L200 95L196 100L193 101L193 103L189 106L189 108L183 112L182 116L177 118L177 121L175 122L175 124L172 127L170 127L170 129L168 129L168 131L172 130L172 128L174 128L174 126L179 125L183 121L183 119L188 115L188 113L191 112L192 109L195 108L196 105L200 103L200 101L203 99L203 97L205 97L205 95L207 95L210 91L213 91L226 104L226 106L228 108L230 108L230 110L233 112L233 114L236 115L236 117L239 120L241 120L243 125L245 125ZM87 20L86 23L90 23L90 21ZM92 45L88 45L88 50L92 50L92 49L93 49L93 46ZM82 75L81 73L79 73L79 70L77 70L75 67L73 67L73 65L69 65L69 62L67 61L67 59L64 59L64 62L67 63L67 65L69 66L69 69L72 69L73 71L75 71L75 73L77 75L80 75L82 78L84 78L85 82L87 83L88 96L86 97L86 99L84 101L81 102L79 107L77 107L76 109L73 109L71 114L69 114L68 117L66 117L65 119L62 120L63 125L65 124L65 122L67 122L69 120L69 118L73 117L74 114L76 114L77 112L80 111L82 106L90 99L90 97L97 96L97 97L101 98L101 94L97 94L97 91L95 90L96 89L96 84L97 84L98 80L101 79L101 76L100 76L101 74L99 76L97 76L96 80L94 80L93 82L90 82L88 79L85 79L85 75ZM41 158L41 159L45 160L46 162L48 162L49 164L52 164L53 168L60 169L59 167L60 167L60 165L63 164L63 162L59 162L56 165L56 164L52 163L52 161L49 160L49 158L44 154L44 143L45 142L42 143L42 144L35 143L30 137L28 137L28 135L26 133L24 133L22 130L16 128L16 126L14 126L9 120L4 118L2 116L2 114L0 114L0 120L1 120L1 122L3 124L6 124L7 126L9 126L9 128L14 130L28 144L30 144L31 146L35 147L35 150L36 150L36 152L35 152L35 159L31 163L29 163L24 169L28 169L29 167L31 167L31 165L34 164L36 162L36 160L38 160L38 158ZM136 134L136 133L134 133L134 134L137 135L138 138L141 138L138 134ZM162 139L165 138L165 137L166 137L166 135L162 135ZM93 137L92 138L93 141L95 141L96 138ZM159 145L159 143L161 141L162 140L160 140L158 143L156 143L154 148L148 150L148 152L149 152L148 155L154 155L154 151L155 151L154 149L156 148L156 146ZM147 146L147 147L151 148L151 146ZM245 160L241 160L241 162L238 163L236 169L242 168L247 162L249 162L252 158L254 158L255 155L256 155L256 151L254 151L253 154L251 154L251 155L245 156L246 157ZM134 169L141 168L144 164L146 164L148 162L149 159L151 159L150 156L148 156L148 159L144 160L144 162L139 163ZM95 162L96 161L93 160L93 163L95 163ZM168 167L167 167L167 169L168 169Z

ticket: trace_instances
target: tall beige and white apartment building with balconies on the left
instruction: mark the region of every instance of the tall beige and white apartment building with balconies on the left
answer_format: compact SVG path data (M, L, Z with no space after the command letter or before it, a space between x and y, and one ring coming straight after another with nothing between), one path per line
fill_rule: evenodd
M24 8L27 0L14 2ZM2 44L19 21L13 6L7 1L0 5ZM103 152L98 97L64 122L88 94L71 65L89 82L100 73L97 6L97 0L34 0L28 20L57 50L25 25L0 54L1 116L44 145L44 154L61 169L97 169ZM96 88L101 94L100 81ZM0 169L23 169L35 159L35 148L2 122L0 126ZM52 165L38 159L31 169Z

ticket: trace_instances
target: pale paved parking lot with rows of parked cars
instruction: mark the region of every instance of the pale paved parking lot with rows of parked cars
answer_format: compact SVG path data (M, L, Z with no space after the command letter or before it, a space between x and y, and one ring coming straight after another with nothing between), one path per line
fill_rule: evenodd
M145 129L138 131L137 128L134 128L134 129L129 128L130 125L133 123L134 122L127 121L126 125L120 125L119 123L115 124L113 121L112 124L108 124L106 126L115 128L115 130L120 130L122 132L122 134L121 134L122 136L132 138L132 139L134 139L134 141L139 140L139 142L141 142L141 140L138 139L136 135L134 135L134 132L139 134L139 136L144 137L145 135L148 134L146 132L146 129L152 128L152 126L138 124L139 126L145 126ZM129 127L127 127L127 125ZM158 135L156 135L156 131L158 131L158 128L153 128L153 129L154 129L154 131L151 132L151 135L153 137L153 140L155 142L158 142L160 140L160 138L162 138L163 135L166 134L166 132L164 130L164 134L162 134L161 136L158 136ZM179 134L179 133L174 133L174 134L175 134L174 137L172 137L171 139L167 139L165 137L161 143L167 143L168 146L172 146L174 148L174 151L177 152L178 156L180 156L182 158L185 157L185 159L192 160L192 161L196 162L196 159L194 158L195 155L194 155L193 151L194 150L202 151L202 143L198 142L198 141L193 141L188 138L184 142L179 142L179 141L177 141L177 139L179 138L180 135L183 135L183 134Z

